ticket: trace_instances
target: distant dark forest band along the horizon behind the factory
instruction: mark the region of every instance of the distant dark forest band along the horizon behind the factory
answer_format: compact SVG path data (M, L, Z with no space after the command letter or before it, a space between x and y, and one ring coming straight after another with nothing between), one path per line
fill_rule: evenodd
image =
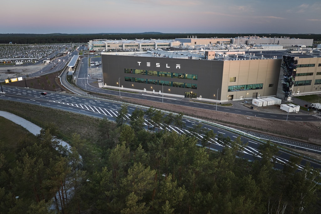
M0 44L56 44L56 43L87 43L93 39L175 39L197 36L197 38L234 38L238 36L281 37L313 39L321 41L321 34L223 34L223 33L96 33L96 34L0 34Z

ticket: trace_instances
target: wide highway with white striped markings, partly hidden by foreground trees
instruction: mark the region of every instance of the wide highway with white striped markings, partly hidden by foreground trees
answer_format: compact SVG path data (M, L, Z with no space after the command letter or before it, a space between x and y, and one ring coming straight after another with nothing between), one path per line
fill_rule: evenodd
M17 88L17 87L8 87L3 86L5 94L0 94L0 99L11 100L11 101L19 101L28 104L41 105L44 107L56 108L60 110L70 111L74 113L84 114L88 116L94 116L98 118L108 118L109 120L114 121L118 116L118 111L121 109L122 103L95 99L91 97L83 97L83 96L75 96L68 94L61 94L58 92L48 92L47 95L41 95L42 91L28 89L28 88ZM129 121L129 117L135 108L142 108L140 106L129 106L128 114L126 115L126 120ZM142 108L145 110L144 108ZM240 134L237 132L232 132L232 130L221 129L219 126L215 126L215 124L211 124L205 121L195 120L193 118L184 117L182 121L185 124L183 129L179 129L173 125L161 124L161 130L168 130L171 132L177 132L179 134L191 134L196 136L199 140L204 137L204 133L191 133L193 127L198 124L202 124L202 127L205 130L213 130L214 133L221 134L223 137L230 137L231 140L235 140ZM144 125L147 127L148 125L152 127L156 127L152 121L148 121L145 119ZM156 128L157 129L157 128ZM204 131L203 131L204 132ZM260 152L258 150L259 145L261 145L260 141L258 141L255 137L251 137L250 135L246 136L242 135L241 141L248 142L248 145L244 147L242 153L243 157L250 161L254 161L256 158L260 157ZM211 139L210 141L210 149L211 150L222 150L224 145L218 141L217 136L215 139ZM280 150L278 156L276 157L277 168L282 168L283 164L287 163L287 160L290 158L291 154ZM302 160L301 166L303 167L308 160ZM321 168L321 164L317 162L311 162L311 165L315 168Z

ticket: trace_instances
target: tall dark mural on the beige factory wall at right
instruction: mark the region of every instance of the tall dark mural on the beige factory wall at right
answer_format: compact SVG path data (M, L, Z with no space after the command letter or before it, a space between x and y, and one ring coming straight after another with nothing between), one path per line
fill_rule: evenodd
M298 67L298 58L299 57L294 56L282 56L279 86L276 94L277 98L291 100L292 86Z

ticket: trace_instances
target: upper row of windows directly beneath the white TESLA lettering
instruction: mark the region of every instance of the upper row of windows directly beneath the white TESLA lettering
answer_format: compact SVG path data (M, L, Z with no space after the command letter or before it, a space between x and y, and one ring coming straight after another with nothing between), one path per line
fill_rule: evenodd
M125 68L125 73L132 73L138 75L149 75L155 77L169 77L169 78L179 78L187 80L197 80L197 74L188 74L188 73L172 73L165 71L148 71L141 69L129 69Z

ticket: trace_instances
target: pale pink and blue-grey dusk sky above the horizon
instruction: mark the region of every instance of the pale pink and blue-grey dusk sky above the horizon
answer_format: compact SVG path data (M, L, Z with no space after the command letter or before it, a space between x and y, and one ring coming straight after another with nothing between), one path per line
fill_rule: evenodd
M3 33L321 34L321 0L12 0Z

